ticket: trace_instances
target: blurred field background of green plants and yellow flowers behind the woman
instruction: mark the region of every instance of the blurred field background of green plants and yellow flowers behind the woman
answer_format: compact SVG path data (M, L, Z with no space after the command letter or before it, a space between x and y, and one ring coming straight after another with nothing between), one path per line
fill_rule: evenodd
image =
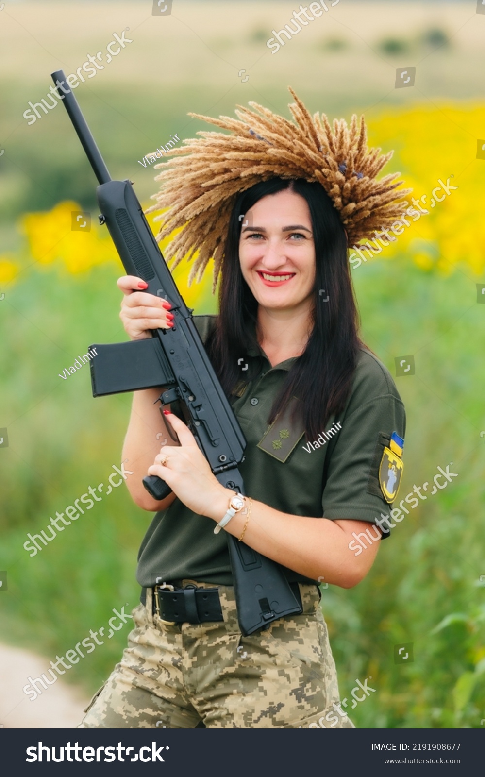
M322 607L340 699L357 679L372 678L375 688L351 710L356 726L480 728L485 305L476 304L476 284L485 283L485 161L476 141L485 135L485 16L470 3L342 0L272 56L265 41L294 7L174 0L172 16L157 19L151 2L12 2L0 13L0 427L9 435L0 448L1 639L40 653L47 669L89 629L106 627L113 608L138 601L136 552L152 514L124 486L37 556L23 549L27 532L46 528L120 465L131 395L92 399L88 368L58 377L89 343L126 339L116 286L123 270L109 252L77 272L62 247L48 262L36 258L25 214L68 200L95 219L96 182L62 106L32 126L22 113L46 95L51 71L75 71L129 26L133 43L76 96L112 176L134 180L147 206L156 171L138 159L170 134L193 137L203 124L187 112L232 115L236 103L256 100L288 116L288 83L331 118L364 111L372 145L396 148L388 167L417 194L438 177L459 180L422 230L420 221L393 252L353 271L365 342L392 375L396 357L415 358L415 375L396 378L407 415L400 498L431 482L438 465L453 462L458 477L411 510L358 587L323 589ZM411 63L417 86L394 89L396 68ZM187 267L177 272L187 277ZM196 313L216 310L209 285L190 289ZM65 680L96 691L126 637L127 627ZM394 663L401 643L413 643L412 663Z

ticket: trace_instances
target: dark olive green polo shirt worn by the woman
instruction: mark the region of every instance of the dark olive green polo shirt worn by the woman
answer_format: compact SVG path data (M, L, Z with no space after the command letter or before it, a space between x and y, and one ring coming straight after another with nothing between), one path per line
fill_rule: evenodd
M202 340L215 319L194 316ZM295 357L271 367L258 348L242 358L243 382L230 401L247 441L239 466L246 495L283 513L330 521L373 523L381 513L389 514L392 505L379 488L379 464L391 434L404 437L406 420L393 378L379 359L360 350L344 410L310 445L302 423L291 423L289 410L268 429L270 408ZM210 518L174 500L155 514L141 543L138 583L152 587L161 577L231 585L225 532L215 535L214 527ZM291 582L309 582L292 570L285 572Z

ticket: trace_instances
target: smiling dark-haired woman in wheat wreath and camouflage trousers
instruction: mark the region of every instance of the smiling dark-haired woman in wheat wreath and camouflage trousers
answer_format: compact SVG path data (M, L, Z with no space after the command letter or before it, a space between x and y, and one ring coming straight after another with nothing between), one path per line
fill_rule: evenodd
M281 117L269 120L264 109L263 119L243 114L250 117L249 132L248 124L242 129L227 120L236 140L249 140L249 151L236 143L235 155L231 136L205 134L204 141L189 141L190 157L181 149L186 156L160 176L176 218L186 219L187 208L197 204L172 253L198 244L196 269L203 271L214 256L215 279L222 274L219 315L195 321L247 440L240 465L247 497L232 501L234 492L212 474L186 425L168 409L160 416L160 389L134 394L123 450L134 472L127 486L134 502L156 515L138 556L142 597L129 646L81 726L354 727L347 699L339 698L318 584L358 584L381 536L389 535L382 462L389 452L400 464L405 418L389 372L358 339L347 236L368 234L375 218L388 225L402 204L390 193L393 176L384 185L374 180L382 164L365 148L363 122L360 134L355 120L350 131L337 125L334 137L325 124L310 129L298 99L291 108L300 144L301 127L309 131L325 186L304 166L295 169L288 127L278 145ZM225 121L215 124L225 127ZM276 172L284 153L291 156L286 175L271 175L268 145L278 150ZM255 148L264 168L251 178ZM356 173L347 202L337 197L349 177L341 153L368 172ZM187 159L190 169L183 169ZM200 159L204 167L197 167ZM236 159L246 166L244 176ZM228 190L228 169L239 192ZM347 207L352 191L360 191L361 204L374 197L377 215ZM170 231L170 211L165 218ZM132 340L173 326L169 305L140 291L144 281L128 276L118 286L120 317ZM150 497L141 485L147 472L173 493L160 502ZM301 615L242 635L225 532L281 564L301 599Z

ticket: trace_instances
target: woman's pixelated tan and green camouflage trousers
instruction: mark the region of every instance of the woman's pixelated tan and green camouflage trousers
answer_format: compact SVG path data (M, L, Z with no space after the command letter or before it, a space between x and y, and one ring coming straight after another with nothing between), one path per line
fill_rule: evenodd
M302 615L250 636L239 630L230 586L219 587L224 621L197 625L164 624L148 590L120 663L78 727L354 728L339 706L318 590L299 588Z

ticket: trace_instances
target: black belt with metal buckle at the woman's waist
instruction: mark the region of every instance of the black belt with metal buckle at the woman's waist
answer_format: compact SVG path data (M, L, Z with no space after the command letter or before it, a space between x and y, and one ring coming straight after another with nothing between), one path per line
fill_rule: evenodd
M298 583L290 583L297 601L301 603ZM142 589L141 603L145 604L146 589ZM176 587L171 583L162 583L152 588L152 614L158 615L162 622L207 623L222 621L221 600L218 588L197 588L190 583L186 587Z

